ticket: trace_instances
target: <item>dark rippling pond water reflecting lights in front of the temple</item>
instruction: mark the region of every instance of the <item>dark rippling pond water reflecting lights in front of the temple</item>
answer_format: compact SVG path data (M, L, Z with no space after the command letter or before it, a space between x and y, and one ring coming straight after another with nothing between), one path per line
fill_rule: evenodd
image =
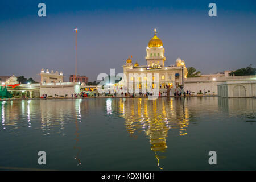
M256 169L253 98L0 101L0 121L0 169Z

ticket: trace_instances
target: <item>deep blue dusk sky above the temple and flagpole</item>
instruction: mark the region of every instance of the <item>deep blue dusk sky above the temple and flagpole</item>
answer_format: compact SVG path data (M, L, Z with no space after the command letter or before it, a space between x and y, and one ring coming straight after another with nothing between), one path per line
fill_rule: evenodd
M38 3L46 3L45 18ZM217 4L217 18L208 5ZM177 57L202 73L256 63L256 1L0 1L0 75L39 80L41 68L75 73L94 81L129 55L146 64L145 48L157 28L166 64Z

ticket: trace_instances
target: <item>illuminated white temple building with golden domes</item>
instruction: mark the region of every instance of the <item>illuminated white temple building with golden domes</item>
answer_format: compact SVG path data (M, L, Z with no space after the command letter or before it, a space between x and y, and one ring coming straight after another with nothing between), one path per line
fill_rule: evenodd
M152 73L152 88L155 88L157 86L156 84L159 84L159 90L166 88L166 86L168 86L168 88L177 88L184 84L184 79L187 75L184 60L178 58L175 65L166 66L163 42L156 36L156 29L154 31L155 34L146 47L146 65L139 65L137 61L133 64L131 57L129 57L125 65L123 65L123 73L126 75L127 79L127 88L130 86L136 89L147 88L146 82L148 73ZM138 73L139 77L129 77L130 73ZM155 77L157 73L158 81L157 77Z

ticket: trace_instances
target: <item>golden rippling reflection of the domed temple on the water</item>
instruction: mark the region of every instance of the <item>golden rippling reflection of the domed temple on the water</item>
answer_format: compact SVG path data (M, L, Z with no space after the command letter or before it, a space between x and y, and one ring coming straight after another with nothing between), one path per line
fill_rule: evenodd
M175 103L175 106L174 106ZM132 135L143 131L150 140L151 150L160 167L159 160L165 158L159 152L167 148L167 135L170 129L179 129L179 135L187 134L189 125L188 108L184 100L176 98L119 99L119 113L125 118L126 130ZM161 168L162 169L162 168Z

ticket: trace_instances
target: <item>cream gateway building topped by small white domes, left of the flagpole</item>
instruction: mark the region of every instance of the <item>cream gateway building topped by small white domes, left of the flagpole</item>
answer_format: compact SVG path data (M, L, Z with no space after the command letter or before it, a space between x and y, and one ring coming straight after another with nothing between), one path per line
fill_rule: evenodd
M41 73L39 74L41 76L41 83L62 83L63 82L63 73L62 72L53 72L49 73L49 70L47 69L46 72L44 72L44 69L41 69Z

